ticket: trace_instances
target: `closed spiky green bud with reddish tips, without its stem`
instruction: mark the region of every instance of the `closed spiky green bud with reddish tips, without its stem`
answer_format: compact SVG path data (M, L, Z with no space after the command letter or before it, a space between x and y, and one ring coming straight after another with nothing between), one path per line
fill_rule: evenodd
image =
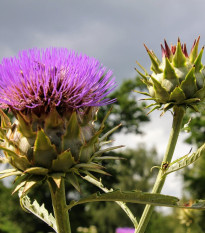
M151 59L152 74L149 75L139 64L145 74L136 70L149 90L146 95L150 98L147 100L155 101L151 105L154 109L166 112L175 105L184 105L197 111L197 105L205 99L205 67L202 64L204 47L198 53L199 39L194 41L189 55L186 44L181 44L180 40L171 48L165 41L165 46L161 45L162 61L145 46Z

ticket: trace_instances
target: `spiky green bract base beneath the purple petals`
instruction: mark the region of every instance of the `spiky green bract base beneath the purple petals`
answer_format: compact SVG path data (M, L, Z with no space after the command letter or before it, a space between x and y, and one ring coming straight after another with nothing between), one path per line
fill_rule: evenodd
M1 172L4 175L0 179L10 175L21 177L14 192L23 188L25 194L35 184L47 179L53 179L58 187L62 178L80 191L78 176L93 172L108 174L101 165L104 152L101 147L113 132L102 135L110 112L96 129L97 110L97 107L88 107L60 115L53 108L38 116L31 110L25 113L13 109L17 119L13 124L0 110L0 149L14 168L5 174ZM106 151L116 148L110 147Z

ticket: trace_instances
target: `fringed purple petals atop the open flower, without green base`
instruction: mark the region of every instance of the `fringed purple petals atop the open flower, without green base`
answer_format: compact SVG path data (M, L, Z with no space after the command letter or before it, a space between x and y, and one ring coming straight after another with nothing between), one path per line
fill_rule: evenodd
M64 48L30 49L0 64L0 107L68 110L102 106L116 83L94 58Z

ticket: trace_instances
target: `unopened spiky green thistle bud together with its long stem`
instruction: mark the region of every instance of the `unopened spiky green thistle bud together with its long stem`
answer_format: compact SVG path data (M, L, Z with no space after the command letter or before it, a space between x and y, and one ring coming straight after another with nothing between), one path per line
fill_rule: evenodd
M186 108L190 107L198 111L197 105L205 98L205 68L201 62L204 47L198 53L198 45L199 38L194 41L188 55L186 44L182 45L179 39L177 45L172 45L171 48L165 41L165 46L161 46L162 61L145 46L151 59L152 73L148 74L138 64L144 70L144 74L138 69L137 72L149 90L149 93L140 93L148 95L150 98L147 100L155 101L148 106L154 107L151 111L162 109L164 113L169 109L173 110L173 123L167 149L152 193L160 193L163 188L166 178L164 173L171 163ZM146 205L136 233L145 232L153 209L153 206Z

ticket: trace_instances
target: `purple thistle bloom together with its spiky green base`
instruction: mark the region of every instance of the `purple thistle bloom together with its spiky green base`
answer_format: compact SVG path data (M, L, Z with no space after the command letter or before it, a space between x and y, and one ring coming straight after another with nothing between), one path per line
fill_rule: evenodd
M38 181L67 178L79 190L76 175L106 174L99 161L107 133L96 129L98 107L113 103L112 72L96 59L67 49L22 51L0 65L1 149L19 175L24 193ZM113 131L113 130L112 130ZM110 132L111 133L111 132ZM112 148L111 148L112 149ZM109 150L106 149L106 150Z

